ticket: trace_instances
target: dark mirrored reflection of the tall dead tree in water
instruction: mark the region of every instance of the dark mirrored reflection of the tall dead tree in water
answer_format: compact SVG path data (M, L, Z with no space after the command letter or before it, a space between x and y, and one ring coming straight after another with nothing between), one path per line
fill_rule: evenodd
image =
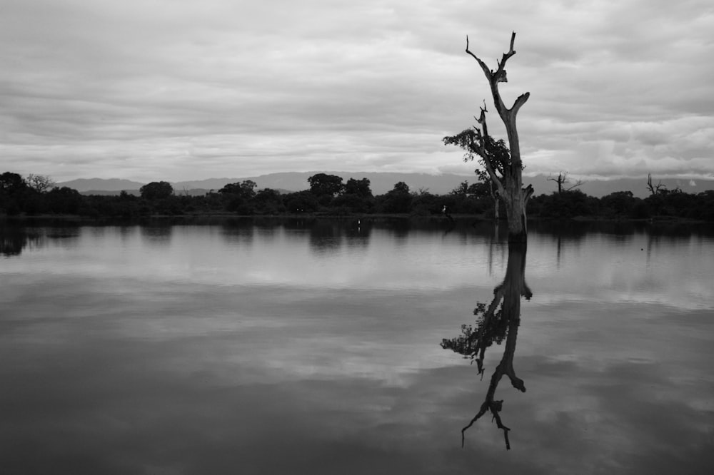
M496 370L491 376L491 384L488 385L486 399L481 404L476 416L461 429L461 446L463 446L466 431L473 426L486 412L491 412L496 426L503 430L503 437L506 439L506 449L511 449L511 442L508 441L508 427L501 420L501 410L503 400L496 400L496 388L504 375L511 379L513 387L521 392L526 392L526 385L523 379L516 376L513 369L513 357L516 354L516 339L518 337L518 325L521 325L521 297L529 300L533 292L526 284L526 245L511 243L508 245L508 265L506 267L506 277L503 282L493 289L493 300L489 305L477 302L473 315L476 315L476 327L462 325L461 335L456 338L443 339L441 347L451 349L453 352L463 354L471 361L476 361L478 374L483 378L483 358L486 349L494 343L501 344L506 341L503 357L498 363Z

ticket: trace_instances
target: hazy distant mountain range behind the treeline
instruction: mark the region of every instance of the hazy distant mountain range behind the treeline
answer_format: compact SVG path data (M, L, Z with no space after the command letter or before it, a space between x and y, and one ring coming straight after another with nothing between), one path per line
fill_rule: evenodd
M273 188L274 190L281 190L283 193L288 193L291 191L306 190L309 188L308 177L321 172L283 172L283 173L269 173L268 175L259 175L243 178L208 178L207 180L193 180L193 181L179 181L176 183L171 183L174 186L174 191L177 194L186 193L188 195L203 195L208 193L208 191L218 191L223 186L228 183L237 183L243 180L253 180L258 184L258 188ZM343 180L348 180L348 178L355 178L356 180L361 180L362 178L367 178L370 180L372 193L375 195L381 195L388 192L394 187L395 183L403 181L412 191L418 191L420 189L429 190L431 193L438 195L443 195L453 188L456 188L459 183L467 180L469 183L476 181L476 176L464 176L464 175L428 175L426 173L350 173L350 172L323 172L330 175L338 175L343 178ZM673 190L676 187L681 188L681 190L686 193L699 193L704 190L714 190L714 179L713 180L678 180L675 178L665 178L659 180L657 178L653 179L655 183L662 183L668 189ZM558 185L554 181L548 180L545 175L536 175L534 177L523 177L523 183L531 183L533 188L535 188L535 194L550 194L558 188ZM571 183L566 183L565 188L573 185L575 180L571 180ZM84 195L116 195L120 191L125 190L127 193L139 194L139 188L141 188L146 183L139 183L131 180L119 180L117 178L111 178L109 180L102 178L81 178L79 180L65 181L62 183L57 183L57 186L66 186L68 188L74 188ZM645 198L649 195L647 190L647 180L644 178L620 178L616 180L590 180L585 181L583 185L578 187L583 193L591 196L596 196L601 198L615 191L631 191L633 195L640 198Z

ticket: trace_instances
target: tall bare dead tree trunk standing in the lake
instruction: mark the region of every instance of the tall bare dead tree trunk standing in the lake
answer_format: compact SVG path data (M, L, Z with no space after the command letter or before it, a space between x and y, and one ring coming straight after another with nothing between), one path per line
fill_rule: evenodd
M486 170L488 175L493 180L498 188L498 193L506 204L506 217L508 218L508 241L509 242L526 242L528 240L528 226L526 224L526 204L528 200L533 195L533 187L528 185L527 188L523 188L523 175L521 171L523 170L523 163L521 161L521 145L518 143L518 129L516 128L516 114L518 109L523 106L531 93L521 94L513 103L511 108L506 108L501 99L501 93L498 91L498 83L505 83L508 81L506 78L506 61L511 58L516 51L513 50L513 43L516 41L516 32L511 34L511 47L508 53L503 53L503 58L498 62L498 69L493 71L486 66L486 63L481 61L478 56L472 53L468 49L468 36L466 37L466 53L471 55L476 61L478 61L479 66L483 69L483 73L488 79L488 84L491 86L491 95L493 96L493 103L496 106L496 111L498 116L501 117L503 124L506 126L506 133L508 135L508 148L511 150L511 163L510 166L503 170L503 180L499 179L496 175L496 164L491 163L489 160L488 153L486 153L486 143L488 141L488 129L486 128L486 107L481 108L481 116L478 118L478 123L481 125L481 131L476 129L476 139L477 143L474 143L474 152L481 155L484 163L486 164Z

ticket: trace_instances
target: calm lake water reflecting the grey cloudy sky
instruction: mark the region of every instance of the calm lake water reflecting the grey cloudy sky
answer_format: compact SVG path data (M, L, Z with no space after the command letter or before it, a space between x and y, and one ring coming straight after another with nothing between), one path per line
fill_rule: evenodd
M0 473L714 473L714 232L503 237L0 224Z

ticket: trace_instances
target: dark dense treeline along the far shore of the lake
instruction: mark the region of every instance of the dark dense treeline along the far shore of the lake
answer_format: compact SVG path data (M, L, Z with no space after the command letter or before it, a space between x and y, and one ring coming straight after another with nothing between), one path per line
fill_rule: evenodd
M373 195L370 182L318 173L308 179L309 190L279 193L256 190L251 180L231 183L216 193L189 196L174 193L171 184L153 182L141 188L141 196L81 195L77 190L51 188L51 180L17 173L0 175L0 215L79 215L89 218L141 218L151 215L352 215L407 214L413 216L449 214L493 218L496 200L486 183L463 182L451 193L434 195L428 190L410 190L403 182L383 195ZM504 216L505 213L500 213ZM654 190L648 198L636 198L619 191L595 198L580 190L539 195L528 203L530 218L544 219L650 219L686 218L714 221L714 191L698 194L680 190Z

